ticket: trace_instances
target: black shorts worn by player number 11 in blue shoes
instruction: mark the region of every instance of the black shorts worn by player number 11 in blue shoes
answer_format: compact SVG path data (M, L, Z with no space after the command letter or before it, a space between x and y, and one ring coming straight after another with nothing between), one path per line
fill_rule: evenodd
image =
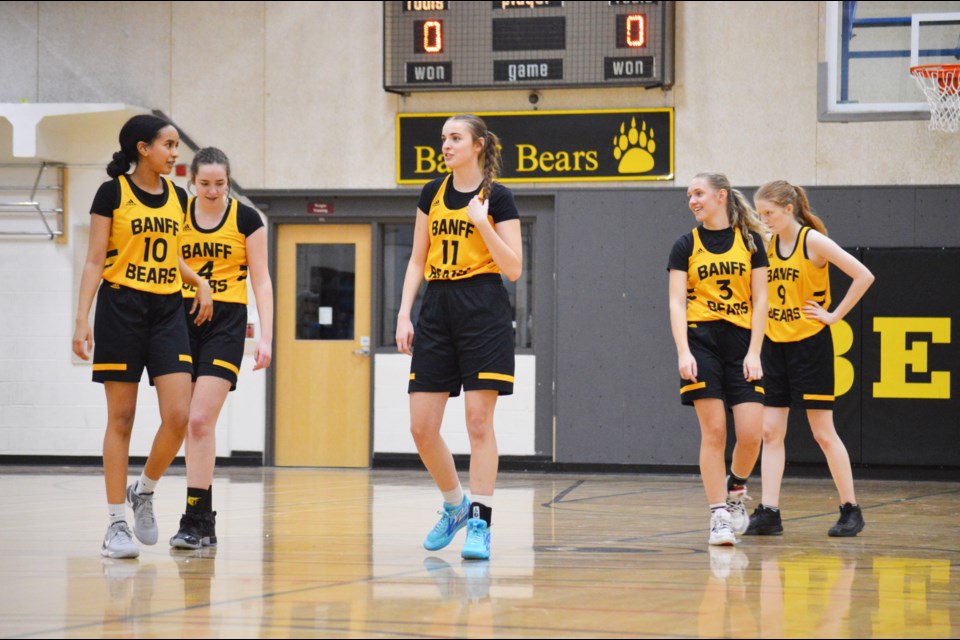
M427 285L413 338L408 392L513 393L513 311L498 274Z

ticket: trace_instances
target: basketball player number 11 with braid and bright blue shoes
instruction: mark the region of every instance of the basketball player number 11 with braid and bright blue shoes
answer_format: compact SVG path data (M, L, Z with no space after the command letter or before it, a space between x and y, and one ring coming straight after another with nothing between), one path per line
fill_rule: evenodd
M444 501L423 546L442 549L466 526L461 555L486 559L499 466L493 412L499 395L513 393L514 373L513 312L500 274L513 281L523 269L520 214L510 190L494 182L499 140L483 120L453 116L443 125L441 139L452 173L420 193L397 316L397 348L413 355L410 431ZM429 284L414 334L410 315L423 278ZM472 502L440 435L447 398L461 388Z

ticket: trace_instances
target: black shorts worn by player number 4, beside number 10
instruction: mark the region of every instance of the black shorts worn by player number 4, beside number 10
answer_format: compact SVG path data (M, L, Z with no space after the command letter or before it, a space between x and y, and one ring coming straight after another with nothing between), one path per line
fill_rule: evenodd
M247 337L247 305L237 302L215 302L213 317L200 326L190 314L193 298L183 299L183 313L190 329L190 353L193 355L193 380L214 376L230 381L230 390L237 388L243 345Z

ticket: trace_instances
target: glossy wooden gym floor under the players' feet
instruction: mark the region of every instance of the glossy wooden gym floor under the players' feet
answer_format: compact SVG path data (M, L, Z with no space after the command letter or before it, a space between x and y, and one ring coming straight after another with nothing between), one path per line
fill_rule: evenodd
M960 636L960 485L860 481L867 527L828 538L829 480L784 483L786 532L710 548L696 476L501 474L493 558L424 551L425 471L217 470L220 545L99 555L98 469L0 468L0 637ZM753 492L759 500L759 482Z

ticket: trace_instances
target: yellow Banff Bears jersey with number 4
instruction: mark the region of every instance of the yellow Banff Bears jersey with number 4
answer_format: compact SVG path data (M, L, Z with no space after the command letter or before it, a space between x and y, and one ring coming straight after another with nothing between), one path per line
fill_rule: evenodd
M247 237L237 221L238 202L230 199L216 229L200 229L197 199L190 198L187 221L180 239L180 255L187 266L210 283L215 302L247 304ZM183 297L193 298L197 289L183 283Z

